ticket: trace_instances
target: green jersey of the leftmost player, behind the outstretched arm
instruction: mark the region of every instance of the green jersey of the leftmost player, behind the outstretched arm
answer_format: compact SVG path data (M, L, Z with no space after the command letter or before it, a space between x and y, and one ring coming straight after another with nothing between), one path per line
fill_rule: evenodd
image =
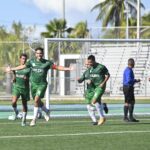
M22 70L14 71L15 74L15 87L19 88L26 88L29 87L29 75L30 75L30 68L25 68Z

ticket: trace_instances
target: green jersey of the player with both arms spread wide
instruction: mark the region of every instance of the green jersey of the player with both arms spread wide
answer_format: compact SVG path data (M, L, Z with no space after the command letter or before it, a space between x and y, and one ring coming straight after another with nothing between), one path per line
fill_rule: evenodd
M31 59L26 63L27 68L31 68L30 81L35 84L47 83L47 72L52 68L53 62L41 59L37 61L36 59Z

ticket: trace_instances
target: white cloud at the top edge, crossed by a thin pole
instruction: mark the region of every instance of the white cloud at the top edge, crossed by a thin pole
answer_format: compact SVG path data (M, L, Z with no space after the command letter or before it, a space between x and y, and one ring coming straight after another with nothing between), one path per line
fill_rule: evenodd
M63 10L63 0L31 0L30 2L34 3L43 13L61 14ZM65 10L67 13L72 11L86 13L97 3L97 0L65 0Z

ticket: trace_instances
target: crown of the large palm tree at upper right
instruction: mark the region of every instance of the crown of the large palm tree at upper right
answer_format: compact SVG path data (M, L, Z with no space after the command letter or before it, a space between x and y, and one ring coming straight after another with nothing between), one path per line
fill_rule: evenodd
M131 16L136 17L136 6L137 0L127 0L128 8L130 10ZM96 20L102 20L102 26L106 27L109 24L114 26L121 26L123 20L125 19L125 0L103 0L92 8L99 10L99 14ZM144 5L141 3L141 7Z

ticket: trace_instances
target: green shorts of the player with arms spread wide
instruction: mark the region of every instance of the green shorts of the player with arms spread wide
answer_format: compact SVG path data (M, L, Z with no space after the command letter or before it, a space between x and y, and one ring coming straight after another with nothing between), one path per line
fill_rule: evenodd
M35 96L39 96L40 98L43 98L45 95L46 88L47 88L47 83L43 83L43 84L31 83L31 94L33 99Z

